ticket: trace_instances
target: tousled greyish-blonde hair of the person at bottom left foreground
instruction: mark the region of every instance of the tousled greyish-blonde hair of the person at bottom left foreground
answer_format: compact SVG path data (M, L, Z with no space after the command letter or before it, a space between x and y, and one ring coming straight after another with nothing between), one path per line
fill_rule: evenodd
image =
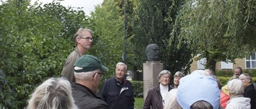
M44 81L29 99L27 109L77 109L72 97L70 82L64 78Z

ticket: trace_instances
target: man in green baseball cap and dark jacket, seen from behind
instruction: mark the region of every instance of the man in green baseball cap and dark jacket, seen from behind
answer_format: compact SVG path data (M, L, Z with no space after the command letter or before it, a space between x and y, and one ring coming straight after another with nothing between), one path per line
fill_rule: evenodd
M78 58L74 64L74 78L72 83L72 95L74 103L79 109L108 109L106 102L102 100L96 91L104 74L108 71L97 57L84 55Z

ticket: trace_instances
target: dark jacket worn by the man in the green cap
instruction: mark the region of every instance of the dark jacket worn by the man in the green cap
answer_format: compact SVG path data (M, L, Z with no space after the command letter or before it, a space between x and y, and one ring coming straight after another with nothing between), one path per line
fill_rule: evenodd
M81 84L72 83L72 95L79 109L108 109L104 100Z

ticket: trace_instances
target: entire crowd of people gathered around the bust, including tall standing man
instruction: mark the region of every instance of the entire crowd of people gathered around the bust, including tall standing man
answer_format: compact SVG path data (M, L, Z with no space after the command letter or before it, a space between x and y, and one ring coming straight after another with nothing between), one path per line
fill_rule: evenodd
M125 63L116 64L115 75L103 81L98 92L109 68L96 56L86 54L92 35L90 29L78 29L76 47L66 58L62 77L40 84L28 100L28 109L134 109L134 88L126 80ZM252 78L240 67L223 87L210 69L195 70L187 76L182 72L172 76L162 70L156 78L159 84L144 96L143 109L256 109Z

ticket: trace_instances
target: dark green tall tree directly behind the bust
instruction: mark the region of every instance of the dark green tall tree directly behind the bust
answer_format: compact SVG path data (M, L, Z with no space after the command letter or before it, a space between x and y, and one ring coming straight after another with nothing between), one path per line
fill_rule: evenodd
M146 46L150 44L158 45L160 49L160 58L164 68L170 72L176 72L185 68L191 58L191 52L186 47L177 48L178 39L171 36L177 16L178 7L182 1L158 1L158 0L140 0L136 10L134 10L133 30L134 36L130 37L135 62L139 68L146 62ZM181 46L186 46L182 44ZM186 69L189 67L187 66Z

